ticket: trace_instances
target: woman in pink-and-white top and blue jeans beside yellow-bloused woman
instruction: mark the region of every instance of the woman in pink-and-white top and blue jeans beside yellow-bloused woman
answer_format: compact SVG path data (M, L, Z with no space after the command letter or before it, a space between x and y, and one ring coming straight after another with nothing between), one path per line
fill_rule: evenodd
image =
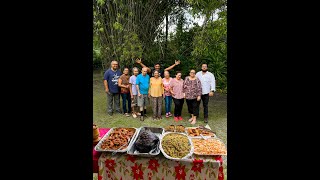
M170 82L172 78L170 77L169 71L164 72L164 78L162 79L163 87L164 87L164 100L166 107L166 118L171 117L171 104L172 104L172 96L170 92Z

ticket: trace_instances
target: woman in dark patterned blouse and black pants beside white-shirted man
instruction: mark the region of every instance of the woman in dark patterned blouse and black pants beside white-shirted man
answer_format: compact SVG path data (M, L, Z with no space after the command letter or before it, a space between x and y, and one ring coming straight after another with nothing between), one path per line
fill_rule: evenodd
M196 71L190 70L190 76L186 77L183 83L183 92L185 94L186 102L188 105L188 112L191 114L189 122L195 124L199 116L199 103L201 100L201 82L196 77Z

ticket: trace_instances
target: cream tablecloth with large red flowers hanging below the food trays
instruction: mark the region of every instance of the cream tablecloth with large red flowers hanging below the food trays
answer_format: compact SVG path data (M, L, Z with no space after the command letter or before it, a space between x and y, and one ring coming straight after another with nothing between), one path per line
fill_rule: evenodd
M221 156L193 156L187 161L173 161L162 154L152 158L132 156L126 153L102 153L99 180L223 180Z

